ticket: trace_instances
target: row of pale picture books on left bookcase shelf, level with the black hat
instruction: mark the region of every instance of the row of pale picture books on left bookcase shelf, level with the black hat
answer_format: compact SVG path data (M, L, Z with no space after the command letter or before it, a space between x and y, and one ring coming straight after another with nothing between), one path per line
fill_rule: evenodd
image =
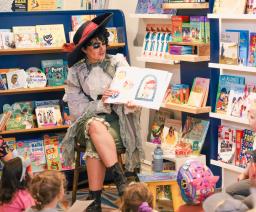
M66 37L63 24L0 29L0 49L62 47L64 43Z

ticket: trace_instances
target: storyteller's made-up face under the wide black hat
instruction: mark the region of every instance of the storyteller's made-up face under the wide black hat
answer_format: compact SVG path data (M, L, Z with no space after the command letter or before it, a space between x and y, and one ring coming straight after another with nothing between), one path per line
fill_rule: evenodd
M107 45L104 39L92 38L86 47L82 48L90 63L98 63L106 56Z

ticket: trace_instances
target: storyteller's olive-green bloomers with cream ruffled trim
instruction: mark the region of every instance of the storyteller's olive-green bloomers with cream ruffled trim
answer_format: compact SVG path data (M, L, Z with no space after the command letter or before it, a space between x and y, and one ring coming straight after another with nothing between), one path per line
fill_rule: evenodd
M102 122L107 128L109 133L112 135L114 138L115 144L117 151L124 149L123 142L120 137L120 127L119 127L119 119L118 116L113 112L111 114L91 114L86 116L85 118L81 119L78 123L79 127L77 128L77 133L76 133L76 139L78 139L78 142L86 146L86 151L83 156L83 159L86 157L93 157L100 159L95 146L88 135L88 129L90 126L90 123L94 120Z

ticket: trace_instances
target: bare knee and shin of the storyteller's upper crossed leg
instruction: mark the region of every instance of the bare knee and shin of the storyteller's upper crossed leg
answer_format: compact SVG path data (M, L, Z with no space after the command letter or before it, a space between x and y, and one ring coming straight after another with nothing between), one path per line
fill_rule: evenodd
M88 132L105 167L113 166L117 162L116 145L107 127L100 121L92 121Z

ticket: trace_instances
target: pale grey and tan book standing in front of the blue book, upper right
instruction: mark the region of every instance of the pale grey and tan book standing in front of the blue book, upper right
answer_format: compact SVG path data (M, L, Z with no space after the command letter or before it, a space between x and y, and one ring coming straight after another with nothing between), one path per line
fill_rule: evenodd
M238 64L239 38L239 32L221 33L219 52L220 63L230 65Z

